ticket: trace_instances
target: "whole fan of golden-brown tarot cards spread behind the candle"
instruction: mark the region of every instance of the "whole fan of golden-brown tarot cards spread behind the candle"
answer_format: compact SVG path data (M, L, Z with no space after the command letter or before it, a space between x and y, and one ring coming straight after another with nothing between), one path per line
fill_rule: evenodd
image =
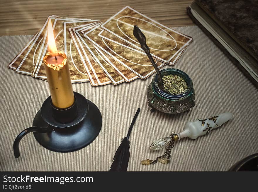
M49 16L42 29L8 65L17 73L47 80L47 21L51 19L57 49L65 52L72 82L120 84L146 79L155 69L133 36L137 25L158 68L174 65L192 38L170 29L126 6L106 21Z

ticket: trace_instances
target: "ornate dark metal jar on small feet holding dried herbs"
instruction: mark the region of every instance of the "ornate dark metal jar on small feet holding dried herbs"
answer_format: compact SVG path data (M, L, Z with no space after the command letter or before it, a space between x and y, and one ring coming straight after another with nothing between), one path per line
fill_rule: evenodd
M147 89L148 105L151 107L151 112L155 109L164 113L181 113L195 106L195 92L191 78L179 69L163 69L160 71L162 76L175 74L182 77L188 86L185 93L180 95L167 94L157 85L158 75L156 74Z

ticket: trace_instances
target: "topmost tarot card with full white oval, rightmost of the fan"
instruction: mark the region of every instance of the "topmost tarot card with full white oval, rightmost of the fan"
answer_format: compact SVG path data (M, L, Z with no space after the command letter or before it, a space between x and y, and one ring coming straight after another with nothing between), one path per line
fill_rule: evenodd
M112 16L101 27L142 51L133 36L134 25L137 25L145 34L152 56L165 63L169 63L192 41L192 38L150 19L129 6Z

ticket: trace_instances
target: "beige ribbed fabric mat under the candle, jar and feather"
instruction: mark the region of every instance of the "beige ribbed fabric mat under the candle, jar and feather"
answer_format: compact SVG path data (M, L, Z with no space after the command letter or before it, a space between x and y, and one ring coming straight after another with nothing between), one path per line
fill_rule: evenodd
M56 153L40 146L29 133L20 143L18 159L13 155L13 141L18 133L32 125L50 92L47 82L7 68L32 36L0 37L0 171L108 171L138 107L141 112L130 136L128 171L227 171L240 159L257 153L257 89L198 27L174 29L193 37L193 42L173 66L193 80L196 106L189 113L150 112L146 90L153 75L117 86L73 84L74 91L99 107L103 117L99 136L79 151ZM233 119L206 136L176 142L169 164L140 164L141 160L155 159L164 152L148 149L157 138L169 136L171 131L182 131L189 121L223 112L232 112Z

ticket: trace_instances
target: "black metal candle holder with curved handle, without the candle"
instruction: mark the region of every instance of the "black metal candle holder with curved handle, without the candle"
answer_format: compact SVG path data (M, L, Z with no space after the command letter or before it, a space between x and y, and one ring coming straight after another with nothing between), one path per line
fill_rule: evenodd
M23 130L13 143L14 156L20 156L19 142L28 133L43 147L56 152L77 151L98 136L102 126L99 108L81 94L74 92L74 103L67 109L52 105L51 96L43 103L33 126Z

